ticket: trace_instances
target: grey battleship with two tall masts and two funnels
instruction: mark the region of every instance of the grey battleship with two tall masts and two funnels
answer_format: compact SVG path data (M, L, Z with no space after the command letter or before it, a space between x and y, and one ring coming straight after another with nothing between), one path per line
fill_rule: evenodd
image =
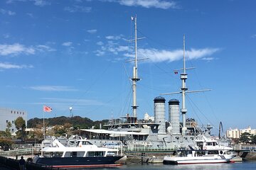
M84 129L81 130L87 139L98 147L172 147L181 148L188 147L188 145L195 145L195 140L202 139L203 137L210 137L210 130L213 128L211 125L198 126L198 123L193 118L186 118L186 100L187 93L196 93L206 90L188 91L186 87L187 69L185 60L185 35L183 35L183 68L177 69L182 71L180 79L182 82L181 91L160 94L154 98L154 117L149 116L147 113L144 120L137 118L137 81L138 77L138 61L145 59L138 59L137 57L137 16L132 17L134 21L134 49L135 56L133 76L132 76L132 91L133 91L133 104L132 115L126 114L121 118L112 119L103 125L105 129ZM168 101L169 118L166 120L166 99L164 95L181 94L181 108L180 102L176 99ZM180 114L182 115L182 122L180 122ZM107 130L106 130L107 129Z

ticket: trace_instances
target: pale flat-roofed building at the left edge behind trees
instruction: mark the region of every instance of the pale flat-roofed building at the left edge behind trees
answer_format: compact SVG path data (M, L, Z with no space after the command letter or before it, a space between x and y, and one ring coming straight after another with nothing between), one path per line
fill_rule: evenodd
M10 122L11 134L14 133L16 131L14 121L18 117L22 117L27 125L27 115L28 113L26 111L21 111L13 108L0 108L0 130L5 131L7 128L7 123Z

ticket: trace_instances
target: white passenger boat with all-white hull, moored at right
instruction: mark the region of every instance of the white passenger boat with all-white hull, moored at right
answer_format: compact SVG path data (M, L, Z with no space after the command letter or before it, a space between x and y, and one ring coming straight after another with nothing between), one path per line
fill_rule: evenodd
M233 148L218 145L216 140L196 140L196 146L179 149L164 157L164 164L219 164L228 163L236 155Z

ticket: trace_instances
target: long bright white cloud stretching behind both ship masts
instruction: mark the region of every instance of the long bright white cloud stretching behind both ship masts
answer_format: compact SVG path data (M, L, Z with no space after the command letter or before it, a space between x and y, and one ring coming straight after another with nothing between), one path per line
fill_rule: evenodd
M189 57L190 60L196 60L199 58L206 58L207 56L213 55L215 52L218 52L218 48L204 48L204 49L191 49L186 51L186 57ZM132 56L126 54L127 56ZM157 49L139 49L139 57L149 57L150 62L174 62L181 60L183 57L183 50L157 50Z

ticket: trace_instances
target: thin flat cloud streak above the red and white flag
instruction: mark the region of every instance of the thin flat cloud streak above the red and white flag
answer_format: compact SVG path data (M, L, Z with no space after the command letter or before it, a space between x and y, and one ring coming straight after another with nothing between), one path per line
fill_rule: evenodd
M69 86L31 86L29 89L36 91L78 91Z

